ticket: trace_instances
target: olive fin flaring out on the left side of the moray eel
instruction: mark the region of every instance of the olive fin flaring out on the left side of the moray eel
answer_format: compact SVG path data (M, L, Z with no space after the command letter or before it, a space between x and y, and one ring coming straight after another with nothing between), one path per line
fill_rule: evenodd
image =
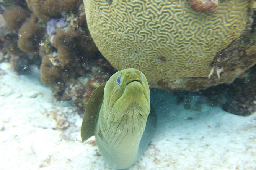
M103 102L105 85L106 82L99 85L99 87L93 91L86 105L81 125L82 141L86 141L88 138L95 135L95 127L98 121L99 110L101 109L101 104Z

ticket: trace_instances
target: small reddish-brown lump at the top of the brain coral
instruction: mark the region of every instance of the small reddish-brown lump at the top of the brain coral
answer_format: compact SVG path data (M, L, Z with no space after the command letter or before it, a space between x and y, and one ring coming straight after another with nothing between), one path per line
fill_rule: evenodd
M190 0L189 5L195 11L214 12L218 8L218 0Z

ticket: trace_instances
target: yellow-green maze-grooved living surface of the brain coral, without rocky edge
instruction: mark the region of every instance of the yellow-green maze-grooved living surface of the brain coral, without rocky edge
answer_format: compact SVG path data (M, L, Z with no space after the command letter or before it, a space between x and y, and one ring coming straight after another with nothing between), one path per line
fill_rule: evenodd
M187 0L84 0L90 34L117 70L133 67L150 87L177 78L208 79L217 52L238 38L249 20L248 0L225 0L214 13ZM209 85L210 86L210 85Z

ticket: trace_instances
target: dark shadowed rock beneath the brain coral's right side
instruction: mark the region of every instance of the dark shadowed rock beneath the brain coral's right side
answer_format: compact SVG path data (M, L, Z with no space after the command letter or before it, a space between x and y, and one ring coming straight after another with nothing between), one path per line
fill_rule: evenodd
M177 104L187 110L200 111L204 104L222 107L223 110L240 116L256 111L256 66L246 71L245 77L231 84L221 84L198 92L179 91L173 95Z

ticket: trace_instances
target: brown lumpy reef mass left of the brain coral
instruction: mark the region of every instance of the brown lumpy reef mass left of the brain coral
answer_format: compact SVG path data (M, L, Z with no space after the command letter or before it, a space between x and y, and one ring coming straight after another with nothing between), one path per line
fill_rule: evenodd
M82 115L92 91L114 73L90 37L82 1L26 2L0 4L8 26L1 26L0 62L11 62L18 73L40 67L55 98L72 99Z

